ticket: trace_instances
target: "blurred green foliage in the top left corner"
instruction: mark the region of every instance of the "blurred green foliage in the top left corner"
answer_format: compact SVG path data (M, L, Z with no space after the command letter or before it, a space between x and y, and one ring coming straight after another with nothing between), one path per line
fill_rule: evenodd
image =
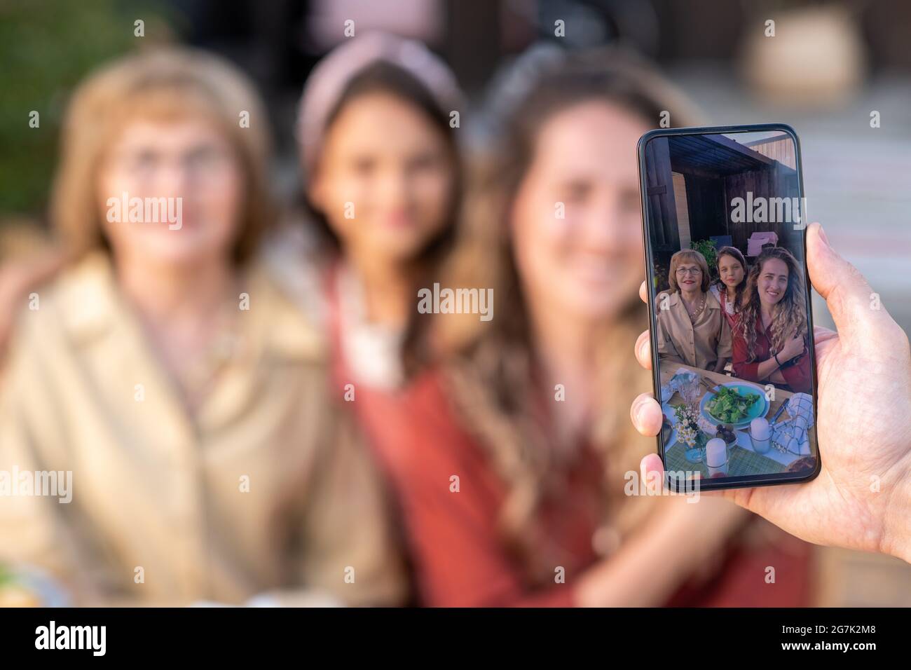
M162 26L147 4L117 0L0 0L0 225L43 213L69 94L99 64ZM134 36L134 21L145 37ZM39 127L30 128L35 110Z

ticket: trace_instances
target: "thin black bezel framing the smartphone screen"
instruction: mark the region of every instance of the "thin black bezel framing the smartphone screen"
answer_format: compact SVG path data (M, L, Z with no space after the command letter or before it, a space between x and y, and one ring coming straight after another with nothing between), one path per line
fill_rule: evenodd
M766 132L770 130L781 130L786 133L788 136L793 139L794 142L794 156L795 162L797 165L797 191L798 196L801 198L801 202L804 203L804 170L801 162L801 149L800 149L800 139L797 138L797 132L786 123L761 123L761 124L752 124L745 126L707 126L699 128L667 128L667 129L653 129L649 130L647 133L640 137L639 142L636 146L637 159L639 161L639 190L640 190L640 200L641 200L641 209L642 209L642 246L645 253L645 276L646 276L646 296L648 298L648 309L649 309L649 343L651 348L651 360L653 362L658 361L658 343L655 339L654 333L657 327L656 319L657 316L654 310L653 304L653 291L651 286L654 285L653 282L653 268L654 264L652 263L651 258L651 245L649 243L649 210L648 210L648 197L645 190L645 148L648 143L655 138L663 137L675 137L680 135L720 135L723 133L741 133L741 132ZM719 479L700 479L698 488L699 490L729 490L729 489L747 489L758 486L773 486L781 484L798 484L805 481L810 481L815 479L823 467L822 455L819 451L819 437L818 437L818 386L816 378L816 351L814 345L814 325L813 325L813 301L811 299L813 292L813 285L810 282L810 273L806 267L806 229L808 224L806 224L805 217L806 212L801 211L801 216L804 219L803 234L801 236L802 243L804 245L804 285L807 295L807 327L809 329L810 336L808 340L808 348L810 354L810 376L813 379L813 412L814 412L814 430L813 430L813 447L814 453L816 455L816 464L812 471L809 473L803 472L780 472L777 474L769 475L754 475L754 476L744 476L744 477L726 477ZM654 390L656 398L660 397L660 371L657 363L654 363L651 366L651 383ZM667 461L665 460L664 455L664 444L661 433L659 432L657 436L658 442L658 454L661 458L661 465L665 469L664 486L668 487L671 490L676 492L689 492L692 488L691 482L681 481L679 479L673 479L669 481L667 477Z

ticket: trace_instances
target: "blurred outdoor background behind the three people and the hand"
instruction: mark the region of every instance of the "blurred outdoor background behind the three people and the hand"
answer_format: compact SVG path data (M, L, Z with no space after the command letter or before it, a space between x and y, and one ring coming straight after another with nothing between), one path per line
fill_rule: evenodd
M349 19L358 34L424 40L474 101L498 66L538 39L619 42L655 59L707 124L793 126L811 220L911 331L911 3L902 0L3 0L0 261L42 237L68 93L97 64L155 42L218 52L258 82L276 129L276 189L290 197L302 84L345 39ZM137 20L144 36L135 36ZM555 35L558 21L565 36ZM29 127L33 110L38 128ZM462 119L470 132L470 109ZM818 296L814 314L831 325ZM824 551L819 574L821 604L911 604L903 562Z

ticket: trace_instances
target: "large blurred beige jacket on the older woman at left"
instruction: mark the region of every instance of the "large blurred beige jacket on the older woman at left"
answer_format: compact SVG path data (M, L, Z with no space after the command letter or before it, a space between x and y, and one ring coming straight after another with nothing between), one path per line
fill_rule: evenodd
M72 501L0 490L0 562L51 572L77 603L404 600L382 487L320 336L264 273L243 291L240 346L194 416L104 256L39 292L0 391L0 477L71 471Z

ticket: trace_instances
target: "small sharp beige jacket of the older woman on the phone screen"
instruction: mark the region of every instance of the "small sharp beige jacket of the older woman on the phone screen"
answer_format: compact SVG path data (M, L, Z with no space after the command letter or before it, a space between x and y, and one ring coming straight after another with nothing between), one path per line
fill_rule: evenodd
M665 298L664 296L668 297ZM731 326L722 305L711 293L705 294L705 309L692 323L680 293L658 294L658 356L662 361L684 363L701 370L713 369L719 359L732 356ZM661 305L666 304L667 309Z

